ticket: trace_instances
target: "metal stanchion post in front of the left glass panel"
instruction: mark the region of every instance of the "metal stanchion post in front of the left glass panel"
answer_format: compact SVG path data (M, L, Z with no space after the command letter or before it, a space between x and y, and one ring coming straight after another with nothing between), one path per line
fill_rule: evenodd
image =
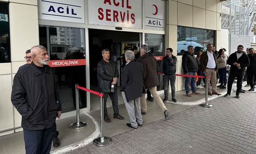
M82 129L87 125L84 122L80 122L80 113L79 113L79 90L77 88L78 84L75 84L75 101L76 101L76 122L70 125L71 129Z

